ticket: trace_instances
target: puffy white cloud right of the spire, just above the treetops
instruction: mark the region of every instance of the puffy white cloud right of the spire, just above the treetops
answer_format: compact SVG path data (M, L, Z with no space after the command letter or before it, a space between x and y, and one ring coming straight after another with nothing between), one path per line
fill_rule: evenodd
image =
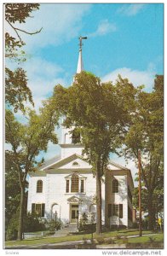
M115 83L115 81L118 79L118 74L120 74L123 79L129 79L129 81L135 86L144 84L146 90L152 90L155 72L153 68L150 67L152 67L151 64L146 71L132 70L128 67L118 68L111 73L105 75L101 80L103 82L112 81L113 83Z

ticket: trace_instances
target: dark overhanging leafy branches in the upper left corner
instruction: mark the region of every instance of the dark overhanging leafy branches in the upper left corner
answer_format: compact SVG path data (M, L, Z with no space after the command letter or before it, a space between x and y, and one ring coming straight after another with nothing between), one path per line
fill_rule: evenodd
M14 61L26 61L26 54L20 50L25 43L22 41L20 33L36 34L37 32L27 32L15 26L15 22L26 23L26 18L31 17L33 10L39 9L38 3L5 3L5 20L15 32L16 38L9 32L5 33L5 57ZM18 109L25 111L24 102L32 101L32 92L27 86L26 72L21 68L14 71L5 68L5 102L14 107L14 112Z

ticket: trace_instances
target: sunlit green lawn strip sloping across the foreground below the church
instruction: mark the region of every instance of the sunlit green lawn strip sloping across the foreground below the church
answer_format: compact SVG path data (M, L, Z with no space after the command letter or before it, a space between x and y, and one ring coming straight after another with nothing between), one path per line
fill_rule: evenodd
M152 233L151 231L145 230L142 232L142 234L150 234ZM119 230L119 231L110 231L110 232L104 232L101 234L100 237L103 238L108 238L108 237L117 237L118 236L133 236L133 235L138 235L139 231L138 230ZM94 238L97 238L99 236L94 234ZM149 236L142 236L142 237L136 237L136 238L129 238L129 242L146 242L147 240L149 241ZM156 237L156 239L163 239L163 234L157 234L153 237ZM161 238L159 238L161 237ZM21 245L37 245L37 244L48 244L48 243L57 243L61 241L79 241L83 239L90 239L91 234L86 234L86 235L72 235L72 236L61 236L61 237L43 237L43 238L32 238L32 239L26 239L23 241L6 241L5 242L5 247L10 247L10 246L21 246ZM136 240L136 241L135 241ZM121 242L121 239L118 239L118 242ZM156 240L157 241L157 240Z

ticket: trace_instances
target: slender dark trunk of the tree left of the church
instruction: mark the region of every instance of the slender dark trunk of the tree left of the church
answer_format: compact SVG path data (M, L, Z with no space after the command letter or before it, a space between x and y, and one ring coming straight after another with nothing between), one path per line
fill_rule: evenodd
M18 227L18 240L22 240L23 234L23 217L24 217L24 207L25 207L25 185L22 184L20 187L20 215L19 215L19 227Z

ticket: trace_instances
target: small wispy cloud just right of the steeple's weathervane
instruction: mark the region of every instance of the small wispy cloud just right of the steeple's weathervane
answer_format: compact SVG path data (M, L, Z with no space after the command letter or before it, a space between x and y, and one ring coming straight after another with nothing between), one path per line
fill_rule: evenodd
M110 23L108 20L101 20L99 26L95 32L92 32L88 35L89 38L104 36L110 32L115 32L117 30L116 26L113 23Z

